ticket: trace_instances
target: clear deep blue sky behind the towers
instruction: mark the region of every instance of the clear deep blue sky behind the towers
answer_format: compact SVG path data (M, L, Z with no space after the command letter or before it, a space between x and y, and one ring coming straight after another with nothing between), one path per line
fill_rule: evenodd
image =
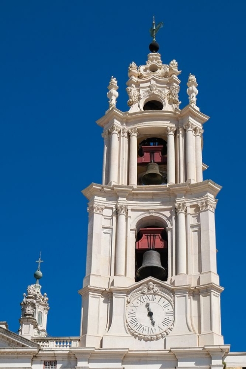
M204 125L205 179L223 186L216 209L222 334L246 351L245 15L241 0L0 1L0 320L19 328L20 302L42 250L42 292L51 336L77 336L85 273L87 200L101 182L108 108L128 110L130 62L145 64L152 17L164 63L179 62L181 108L196 75Z

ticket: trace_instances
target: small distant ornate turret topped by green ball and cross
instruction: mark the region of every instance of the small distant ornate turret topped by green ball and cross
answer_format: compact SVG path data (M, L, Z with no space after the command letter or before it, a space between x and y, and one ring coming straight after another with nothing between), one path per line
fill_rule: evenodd
M40 271L42 262L40 251L39 259L36 261L38 267L34 273L36 283L28 286L27 294L23 294L24 298L21 302L20 336L28 339L47 336L48 297L46 293L41 294L41 285L39 284L39 279L43 277Z

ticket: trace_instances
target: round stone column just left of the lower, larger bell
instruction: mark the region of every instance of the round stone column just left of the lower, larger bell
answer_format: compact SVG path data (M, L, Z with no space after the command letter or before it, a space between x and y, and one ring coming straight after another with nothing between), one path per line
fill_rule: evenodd
M127 215L127 206L124 204L116 204L116 211L118 215L117 222L117 236L116 236L116 261L115 261L115 275L125 275L125 217Z

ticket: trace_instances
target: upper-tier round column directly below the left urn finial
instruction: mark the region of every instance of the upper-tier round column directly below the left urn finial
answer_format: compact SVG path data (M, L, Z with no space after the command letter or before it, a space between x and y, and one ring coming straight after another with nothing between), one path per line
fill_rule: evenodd
M109 128L110 136L110 160L109 160L109 184L118 184L118 156L119 156L119 132L121 128L112 125Z

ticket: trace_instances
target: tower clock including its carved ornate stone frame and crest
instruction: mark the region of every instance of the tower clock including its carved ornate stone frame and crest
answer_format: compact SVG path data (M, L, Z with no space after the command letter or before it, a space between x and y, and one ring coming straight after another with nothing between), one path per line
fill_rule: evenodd
M126 327L132 336L152 341L171 332L174 304L169 291L149 282L134 290L126 302Z

